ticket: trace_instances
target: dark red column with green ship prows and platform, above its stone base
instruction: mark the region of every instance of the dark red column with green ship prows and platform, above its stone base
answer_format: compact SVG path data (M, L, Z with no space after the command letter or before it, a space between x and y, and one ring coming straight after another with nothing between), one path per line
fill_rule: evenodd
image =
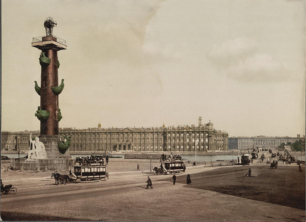
M33 38L32 46L41 50L41 87L35 81L35 90L40 95L40 106L35 116L40 120L40 135L58 135L58 122L62 119L58 107L58 95L64 88L64 79L58 86L59 61L57 52L67 49L66 41L52 35L56 22L48 17L44 22L46 36Z

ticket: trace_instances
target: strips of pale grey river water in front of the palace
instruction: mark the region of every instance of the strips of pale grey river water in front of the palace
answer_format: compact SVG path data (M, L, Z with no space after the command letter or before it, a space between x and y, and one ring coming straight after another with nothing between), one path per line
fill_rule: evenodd
M18 158L18 153L3 153L1 154L3 156L7 156L9 158ZM20 153L19 157L25 157L26 153ZM72 159L75 159L76 157L82 157L82 156L90 156L91 154L70 154ZM113 155L113 154L112 154ZM114 154L113 156L122 156L124 158L124 154ZM181 155L181 157L184 160L190 160L195 161L195 155ZM197 155L197 161L216 161L216 160L231 160L231 159L237 159L237 155ZM241 159L241 156L240 158Z

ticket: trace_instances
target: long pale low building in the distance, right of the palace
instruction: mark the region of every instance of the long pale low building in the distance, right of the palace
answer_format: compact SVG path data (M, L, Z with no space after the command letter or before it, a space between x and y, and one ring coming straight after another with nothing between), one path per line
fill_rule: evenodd
M229 137L228 138L228 149L234 150L248 150L259 147L259 149L276 149L281 143L291 142L294 143L296 140L303 139L305 136L300 137L288 137L288 136L276 136L276 137L266 137L266 136L256 136L256 137Z

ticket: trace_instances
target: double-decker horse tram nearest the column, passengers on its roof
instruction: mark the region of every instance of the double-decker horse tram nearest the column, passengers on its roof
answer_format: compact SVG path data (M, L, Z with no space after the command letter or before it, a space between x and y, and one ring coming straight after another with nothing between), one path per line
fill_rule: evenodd
M81 181L101 180L107 175L106 165L102 161L76 161L74 175Z

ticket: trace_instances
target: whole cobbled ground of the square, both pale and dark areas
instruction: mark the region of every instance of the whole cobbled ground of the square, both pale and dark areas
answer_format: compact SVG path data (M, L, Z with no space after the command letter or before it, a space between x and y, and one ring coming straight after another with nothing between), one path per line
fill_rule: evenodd
M1 197L3 220L102 221L305 221L305 167L280 163L187 167L177 175L154 176L150 163L109 163L110 179L54 185L52 171L3 172L18 188ZM152 164L153 166L153 164ZM245 174L248 168L252 176ZM64 172L61 172L64 174ZM187 174L192 183L186 184ZM154 189L146 190L147 176ZM47 195L46 195L47 194ZM22 204L20 204L22 203ZM30 209L30 210L29 210ZM256 212L256 217L250 211Z

